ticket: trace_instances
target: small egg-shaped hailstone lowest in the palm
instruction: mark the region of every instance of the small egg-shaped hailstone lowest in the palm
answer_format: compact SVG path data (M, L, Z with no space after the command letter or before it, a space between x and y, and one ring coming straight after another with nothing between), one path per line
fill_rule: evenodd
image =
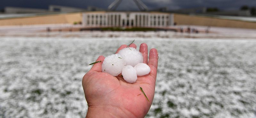
M137 80L136 70L131 65L126 65L123 68L122 75L128 83L134 83Z

